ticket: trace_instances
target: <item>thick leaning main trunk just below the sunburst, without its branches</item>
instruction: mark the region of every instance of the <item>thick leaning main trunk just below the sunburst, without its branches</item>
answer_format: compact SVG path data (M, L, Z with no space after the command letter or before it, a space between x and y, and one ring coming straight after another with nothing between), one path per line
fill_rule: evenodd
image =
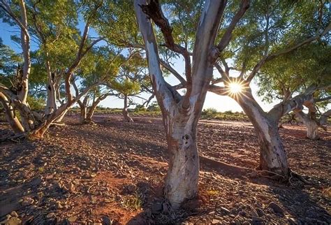
M267 115L251 93L235 99L251 120L260 144L260 170L268 170L288 177L288 161L279 136L278 120Z

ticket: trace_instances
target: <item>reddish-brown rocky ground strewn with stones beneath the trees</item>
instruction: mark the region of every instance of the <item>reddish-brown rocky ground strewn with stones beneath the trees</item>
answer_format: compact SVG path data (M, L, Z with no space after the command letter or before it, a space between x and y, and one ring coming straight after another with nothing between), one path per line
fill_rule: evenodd
M213 163L257 166L251 124L200 123L200 194L173 212L162 197L168 163L161 120L94 119L80 125L67 117L43 140L0 143L0 222L331 224L330 133L313 141L304 138L303 126L280 130L290 168L309 182L284 184ZM0 124L0 136L8 132Z

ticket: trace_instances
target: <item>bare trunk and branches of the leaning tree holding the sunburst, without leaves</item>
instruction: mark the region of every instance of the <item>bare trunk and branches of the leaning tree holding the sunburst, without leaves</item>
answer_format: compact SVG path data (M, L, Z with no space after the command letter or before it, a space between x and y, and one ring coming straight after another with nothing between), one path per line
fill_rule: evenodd
M245 65L243 64L241 69L232 68L228 66L225 59L221 60L221 64L215 64L221 74L221 78L212 80L212 85L209 87L209 91L214 92L219 95L228 95L233 98L244 110L244 113L249 117L253 124L254 129L258 135L258 141L260 143L260 165L258 169L267 170L272 173L277 173L278 175L285 178L285 180L290 175L290 170L288 169L288 161L286 157L286 151L284 145L281 141L278 131L278 123L282 116L286 115L292 110L301 110L304 103L307 103L309 99L312 98L312 94L318 89L323 89L325 87L318 87L316 85L311 85L303 94L299 94L295 97L288 96L281 103L277 104L269 112L265 112L256 99L254 99L251 92L250 84L253 78L256 76L260 68L267 62L280 55L284 55L288 52L292 52L303 45L307 45L312 41L315 41L321 36L328 34L331 25L329 24L321 34L316 34L311 38L290 46L284 50L279 50L278 52L265 52L265 55L252 67L251 71L246 71ZM239 71L240 75L236 78L230 76L230 71ZM223 87L216 86L216 83L223 83ZM242 91L240 93L234 94L231 92L232 84L240 85Z

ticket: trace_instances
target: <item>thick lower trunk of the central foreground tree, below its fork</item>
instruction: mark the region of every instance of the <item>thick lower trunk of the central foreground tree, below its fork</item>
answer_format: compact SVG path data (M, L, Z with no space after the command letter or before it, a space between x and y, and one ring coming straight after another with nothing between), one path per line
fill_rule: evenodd
M179 208L185 200L198 194L199 157L196 124L187 117L175 117L170 119L167 126L170 161L165 180L165 196L172 208Z

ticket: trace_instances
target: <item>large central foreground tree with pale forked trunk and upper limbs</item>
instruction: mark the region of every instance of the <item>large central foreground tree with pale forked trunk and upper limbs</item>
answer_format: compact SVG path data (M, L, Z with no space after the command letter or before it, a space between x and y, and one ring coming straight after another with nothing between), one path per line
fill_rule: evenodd
M233 29L249 7L249 1L243 0L240 3L239 10L228 24L228 29L222 34L218 44L215 44L216 34L226 8L226 1L205 1L200 20L195 23L196 37L191 38L190 46L193 52L189 52L189 43L184 43L184 46L180 43L181 31L173 32L175 30L163 14L159 1L146 3L144 0L135 0L134 6L145 43L152 87L163 115L168 152L170 152L165 197L170 201L172 208L178 208L183 201L195 197L198 193L199 159L196 145L198 118L212 79L214 62L230 42ZM184 58L186 76L184 96L163 78L162 62L150 19L161 29L165 41L163 45L166 49ZM179 26L176 28L179 29ZM182 34L184 35L185 32L183 31ZM175 71L174 73L176 74ZM184 83L180 75L179 79Z

